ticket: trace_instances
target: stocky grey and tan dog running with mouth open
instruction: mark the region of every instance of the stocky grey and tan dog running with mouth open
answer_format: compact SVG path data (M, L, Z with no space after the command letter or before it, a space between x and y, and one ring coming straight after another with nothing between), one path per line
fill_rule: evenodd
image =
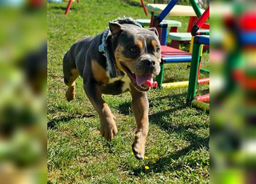
M63 57L67 101L75 98L75 79L83 87L100 116L101 135L112 140L117 134L114 116L102 94L129 91L137 131L132 144L137 159L144 159L148 135L147 91L156 87L153 76L160 72L161 45L155 28L142 28L131 18L109 22L109 28L95 37L83 37Z

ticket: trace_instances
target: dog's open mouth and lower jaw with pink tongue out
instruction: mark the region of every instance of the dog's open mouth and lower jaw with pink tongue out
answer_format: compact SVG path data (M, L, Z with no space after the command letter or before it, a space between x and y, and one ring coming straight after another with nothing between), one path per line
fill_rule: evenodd
M125 67L123 64L125 72L127 72L127 75L131 79L131 82L133 86L136 87L137 90L140 91L148 91L151 87L157 87L157 82L153 81L153 74L147 74L147 75L136 75L129 70L129 68Z

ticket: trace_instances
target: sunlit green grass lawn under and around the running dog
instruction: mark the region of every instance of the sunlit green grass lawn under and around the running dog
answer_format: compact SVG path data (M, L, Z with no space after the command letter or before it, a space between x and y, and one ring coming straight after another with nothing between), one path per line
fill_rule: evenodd
M119 129L112 142L100 135L81 78L77 98L66 101L62 58L70 46L103 32L117 17L146 18L142 7L121 1L74 2L68 16L66 5L48 4L48 183L208 183L209 114L185 104L186 88L148 93L150 133L143 161L131 154L136 124L129 93L104 95ZM185 31L188 18L174 18ZM202 56L207 69L208 57ZM166 65L165 81L188 77L186 64ZM197 94L208 92L208 85L198 87Z

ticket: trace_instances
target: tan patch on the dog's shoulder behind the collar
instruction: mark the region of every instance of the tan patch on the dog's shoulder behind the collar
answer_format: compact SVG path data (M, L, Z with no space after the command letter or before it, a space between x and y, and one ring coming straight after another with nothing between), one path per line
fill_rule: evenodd
M106 74L106 70L100 64L98 64L98 62L96 62L95 60L91 62L91 70L93 71L94 79L97 82L102 82L104 84L109 82L109 78L108 78L108 75Z

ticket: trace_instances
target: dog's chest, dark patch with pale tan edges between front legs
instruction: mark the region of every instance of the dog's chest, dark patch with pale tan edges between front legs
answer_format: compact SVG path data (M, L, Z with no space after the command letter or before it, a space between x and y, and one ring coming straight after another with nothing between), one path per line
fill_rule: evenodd
M129 90L131 81L127 75L120 78L109 79L109 82L101 86L101 92L103 94L122 94Z

